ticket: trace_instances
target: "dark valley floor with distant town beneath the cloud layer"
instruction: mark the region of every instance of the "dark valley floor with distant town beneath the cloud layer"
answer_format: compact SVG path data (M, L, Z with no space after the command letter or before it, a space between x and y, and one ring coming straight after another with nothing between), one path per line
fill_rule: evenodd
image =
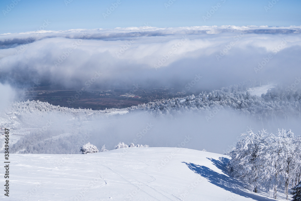
M177 91L174 88L162 86L160 88L143 89L135 86L133 88L110 89L47 89L46 87L36 87L35 90L22 92L23 97L29 100L39 100L52 105L60 105L69 108L86 108L93 110L103 110L105 108L127 108L160 99L174 97L184 97L198 94L200 92L187 93ZM24 100L25 100L24 99Z

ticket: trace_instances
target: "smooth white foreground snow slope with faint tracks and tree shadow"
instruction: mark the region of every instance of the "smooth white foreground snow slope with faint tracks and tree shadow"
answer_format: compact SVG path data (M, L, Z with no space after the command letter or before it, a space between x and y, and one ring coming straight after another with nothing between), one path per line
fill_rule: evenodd
M245 190L244 184L229 177L228 160L225 155L182 148L11 154L10 196L1 193L0 199L274 200Z

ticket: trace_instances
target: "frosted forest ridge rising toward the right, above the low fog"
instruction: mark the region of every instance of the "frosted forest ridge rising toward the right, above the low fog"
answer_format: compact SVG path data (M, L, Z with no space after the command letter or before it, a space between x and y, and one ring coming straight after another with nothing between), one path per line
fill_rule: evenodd
M147 110L154 115L174 115L183 112L209 112L212 109L232 109L257 119L267 116L287 117L301 115L301 91L287 91L280 87L266 89L263 97L252 95L242 90L241 85L234 85L198 96L175 99L163 99L144 105L133 106L129 110ZM261 91L263 92L263 91ZM259 92L259 93L261 93ZM277 109L276 109L277 108ZM281 110L279 110L281 108Z

